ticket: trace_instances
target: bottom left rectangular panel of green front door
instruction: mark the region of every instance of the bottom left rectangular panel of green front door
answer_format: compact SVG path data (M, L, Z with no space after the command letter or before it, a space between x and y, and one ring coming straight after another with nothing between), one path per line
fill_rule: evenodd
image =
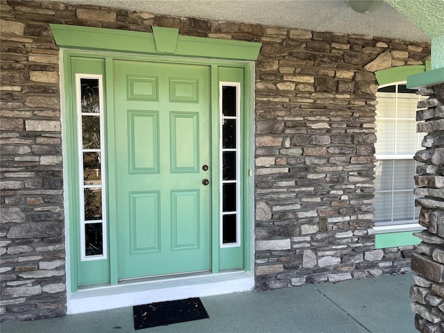
M130 192L131 255L160 251L160 192Z

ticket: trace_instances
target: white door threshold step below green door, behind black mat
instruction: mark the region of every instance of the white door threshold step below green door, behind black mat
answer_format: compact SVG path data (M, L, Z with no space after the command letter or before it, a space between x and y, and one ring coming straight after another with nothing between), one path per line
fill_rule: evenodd
M165 300L222 295L252 290L254 286L253 273L246 271L126 281L122 284L82 289L72 293L67 301L67 314L133 307Z

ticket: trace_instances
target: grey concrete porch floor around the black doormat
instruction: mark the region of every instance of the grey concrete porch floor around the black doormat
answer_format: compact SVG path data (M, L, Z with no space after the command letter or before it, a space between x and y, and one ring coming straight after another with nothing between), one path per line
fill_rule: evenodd
M411 284L408 273L203 297L210 318L137 332L414 333ZM0 327L2 333L136 332L132 307Z

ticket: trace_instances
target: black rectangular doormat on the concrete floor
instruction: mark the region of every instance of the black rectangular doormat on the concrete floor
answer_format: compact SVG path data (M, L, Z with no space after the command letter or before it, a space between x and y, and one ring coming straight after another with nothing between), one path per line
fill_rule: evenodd
M198 297L137 305L133 314L135 330L210 318Z

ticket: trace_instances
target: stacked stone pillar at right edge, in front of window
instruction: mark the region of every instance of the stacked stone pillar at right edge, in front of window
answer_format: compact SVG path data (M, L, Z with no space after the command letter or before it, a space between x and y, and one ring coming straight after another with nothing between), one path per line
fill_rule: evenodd
M421 207L420 224L427 228L416 235L421 243L411 257L416 271L410 297L416 312L416 329L421 332L444 332L444 85L425 89L420 94L429 99L420 101L417 112L418 132L428 133L422 142L424 150L416 160L424 162L415 177L416 200Z

